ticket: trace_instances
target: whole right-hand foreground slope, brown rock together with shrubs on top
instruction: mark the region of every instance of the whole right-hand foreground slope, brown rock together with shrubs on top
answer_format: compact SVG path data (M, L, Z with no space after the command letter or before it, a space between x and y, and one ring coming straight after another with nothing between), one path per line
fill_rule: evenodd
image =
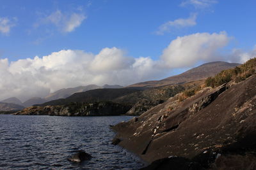
M255 169L256 58L113 127L143 169Z

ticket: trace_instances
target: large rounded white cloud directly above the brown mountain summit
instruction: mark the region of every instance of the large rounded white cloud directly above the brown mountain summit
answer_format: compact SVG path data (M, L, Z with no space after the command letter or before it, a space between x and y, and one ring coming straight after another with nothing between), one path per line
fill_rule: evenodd
M227 45L229 39L226 32L177 37L163 50L161 59L168 67L189 67L198 61L216 60L218 50Z

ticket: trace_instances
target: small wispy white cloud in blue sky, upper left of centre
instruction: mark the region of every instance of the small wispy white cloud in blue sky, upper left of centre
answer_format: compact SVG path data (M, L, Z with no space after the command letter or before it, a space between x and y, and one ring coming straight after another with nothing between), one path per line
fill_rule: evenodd
M85 19L86 16L84 13L62 13L61 10L57 10L45 18L42 18L35 26L50 23L56 25L62 32L72 32L79 27Z

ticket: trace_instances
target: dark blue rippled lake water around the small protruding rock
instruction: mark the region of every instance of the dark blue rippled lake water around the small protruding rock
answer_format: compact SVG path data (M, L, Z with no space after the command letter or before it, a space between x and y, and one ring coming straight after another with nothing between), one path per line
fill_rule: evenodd
M138 169L140 159L111 145L109 125L129 119L0 115L0 169ZM93 158L67 160L77 150Z

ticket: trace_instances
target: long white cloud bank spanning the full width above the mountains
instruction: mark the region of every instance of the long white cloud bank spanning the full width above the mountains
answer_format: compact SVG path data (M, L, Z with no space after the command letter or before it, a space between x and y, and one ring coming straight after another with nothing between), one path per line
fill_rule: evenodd
M156 80L178 67L226 60L219 57L219 50L228 44L229 39L226 32L177 37L163 50L158 60L129 57L124 50L116 47L103 48L97 54L83 50L61 50L44 57L12 62L0 59L0 99L15 96L24 101L79 85L129 85ZM256 50L247 53L236 50L236 53L237 58L233 57L232 61L244 61ZM232 53L234 55L235 52Z

